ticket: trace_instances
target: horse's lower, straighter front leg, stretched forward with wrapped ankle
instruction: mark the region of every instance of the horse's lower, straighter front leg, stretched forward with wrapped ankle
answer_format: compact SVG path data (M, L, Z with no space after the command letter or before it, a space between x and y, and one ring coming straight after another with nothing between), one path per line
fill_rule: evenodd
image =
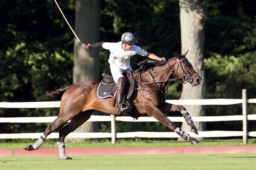
M176 127L176 125L171 122L164 114L163 112L156 106L147 106L147 115L150 117L154 117L159 122L163 123L167 127L169 127L171 130L174 130L180 137L182 137L184 140L190 141L192 144L198 144L200 141L198 141L196 138L192 138L189 134L184 132L179 127Z

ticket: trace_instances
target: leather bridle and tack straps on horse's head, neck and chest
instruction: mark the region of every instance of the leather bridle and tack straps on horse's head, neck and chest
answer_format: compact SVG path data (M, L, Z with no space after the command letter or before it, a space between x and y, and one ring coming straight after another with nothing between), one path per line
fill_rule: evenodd
M172 81L179 81L179 83L182 83L182 84L186 84L187 82L191 83L193 81L193 79L191 77L194 74L198 75L198 73L196 71L193 71L192 73L190 73L186 68L184 68L182 66L181 62L183 60L187 60L186 57L178 58L178 57L175 56L175 58L179 59L177 61L178 62L178 67L177 68L171 66L171 64L168 63L168 61L165 61L165 64L167 64L169 66L169 68L171 69L171 71L172 71L172 74L174 76L173 79L155 81L155 79L154 79L154 77L153 77L153 75L152 75L152 73L150 72L150 69L149 69L148 71L149 71L150 79L151 79L152 82L146 82L146 83L142 83L142 78L141 78L141 73L142 73L141 70L142 70L143 64L144 63L154 63L155 65L160 65L161 63L163 63L163 61L159 62L159 61L145 60L143 62L138 63L138 65L141 66L141 67L134 72L134 73L136 73L136 72L139 71L139 83L136 84L136 85L138 85L138 87L135 87L135 90L161 91L163 93L163 95L166 95L166 92L163 92L163 90L160 87L158 87L158 83L167 83L168 82L168 86ZM182 74L181 72L178 71L179 67L181 67L182 71L185 74ZM178 73L179 76L177 76L176 73ZM155 84L157 89L156 88L142 88L142 85L146 85L146 84Z

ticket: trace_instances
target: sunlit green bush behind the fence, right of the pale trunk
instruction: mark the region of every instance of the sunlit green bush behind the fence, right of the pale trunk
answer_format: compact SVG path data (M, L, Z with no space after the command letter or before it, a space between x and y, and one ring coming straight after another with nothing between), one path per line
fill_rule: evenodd
M242 89L248 90L248 98L255 98L256 92L256 53L247 52L244 55L228 56L212 53L211 57L204 60L208 78L206 78L207 99L241 99ZM209 78L211 77L211 79ZM232 106L209 106L207 115L240 115L242 108L240 105ZM248 113L255 113L256 107L248 106ZM252 125L252 124L251 124ZM224 129L240 130L241 121L232 123L207 123L208 130L212 127ZM255 126L248 127L250 130Z

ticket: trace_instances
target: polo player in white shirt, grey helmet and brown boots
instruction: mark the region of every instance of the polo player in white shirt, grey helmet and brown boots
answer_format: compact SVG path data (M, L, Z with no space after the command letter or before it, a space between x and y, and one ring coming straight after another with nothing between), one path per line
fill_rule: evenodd
M125 32L122 34L121 41L117 43L94 43L94 44L82 44L82 48L85 50L89 50L90 48L95 47L103 47L110 51L110 57L108 62L110 63L110 71L113 76L115 83L117 84L116 90L116 103L117 103L117 113L120 115L121 113L127 113L129 111L129 107L126 106L124 101L125 89L126 89L126 79L123 76L123 72L126 70L131 70L130 66L130 58L136 54L146 56L150 59L163 61L165 62L165 57L160 58L153 53L147 52L141 47L134 45L134 43L138 43L138 40L135 39L134 34L131 32Z

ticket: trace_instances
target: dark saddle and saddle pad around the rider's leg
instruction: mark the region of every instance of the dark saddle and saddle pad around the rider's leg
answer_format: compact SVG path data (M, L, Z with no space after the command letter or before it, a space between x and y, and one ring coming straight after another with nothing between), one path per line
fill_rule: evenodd
M131 95L134 92L134 76L133 72L130 70L126 70L123 73L124 77L126 78L126 100L130 99ZM98 86L97 95L101 99L114 97L114 94L116 92L116 83L114 82L114 79L111 75L107 73L102 73L103 79L101 80L101 83Z

